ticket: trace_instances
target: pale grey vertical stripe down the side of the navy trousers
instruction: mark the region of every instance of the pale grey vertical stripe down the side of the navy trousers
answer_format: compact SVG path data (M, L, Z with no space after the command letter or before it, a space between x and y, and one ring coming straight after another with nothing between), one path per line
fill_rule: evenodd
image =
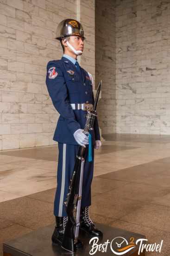
M62 186L61 186L61 194L60 194L60 203L58 216L61 217L63 213L63 198L64 198L64 187L65 187L65 159L66 159L66 144L63 144L63 167L62 167Z

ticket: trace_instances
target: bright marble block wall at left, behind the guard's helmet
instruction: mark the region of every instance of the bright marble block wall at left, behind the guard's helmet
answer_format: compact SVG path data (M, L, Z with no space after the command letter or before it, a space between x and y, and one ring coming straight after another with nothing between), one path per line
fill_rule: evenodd
M86 30L81 64L94 75L94 0L0 0L0 150L56 143L46 64L63 55L54 38L69 17Z

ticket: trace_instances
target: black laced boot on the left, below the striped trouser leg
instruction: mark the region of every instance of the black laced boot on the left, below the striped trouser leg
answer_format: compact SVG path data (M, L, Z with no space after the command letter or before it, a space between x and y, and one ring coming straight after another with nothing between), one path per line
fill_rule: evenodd
M62 243L64 229L66 226L67 217L58 217L56 216L56 226L52 234L51 240L53 243Z

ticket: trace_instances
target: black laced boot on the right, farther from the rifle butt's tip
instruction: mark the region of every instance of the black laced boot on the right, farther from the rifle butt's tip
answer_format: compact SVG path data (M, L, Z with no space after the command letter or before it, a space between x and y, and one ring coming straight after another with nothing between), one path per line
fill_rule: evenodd
M103 236L103 233L99 229L95 228L94 223L90 219L88 206L81 207L80 229L88 233L90 236Z

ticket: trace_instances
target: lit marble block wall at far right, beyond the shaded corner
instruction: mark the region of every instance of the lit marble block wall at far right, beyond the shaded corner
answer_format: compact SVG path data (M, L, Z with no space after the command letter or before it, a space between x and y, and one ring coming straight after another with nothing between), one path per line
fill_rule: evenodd
M116 132L170 134L170 1L116 0Z

